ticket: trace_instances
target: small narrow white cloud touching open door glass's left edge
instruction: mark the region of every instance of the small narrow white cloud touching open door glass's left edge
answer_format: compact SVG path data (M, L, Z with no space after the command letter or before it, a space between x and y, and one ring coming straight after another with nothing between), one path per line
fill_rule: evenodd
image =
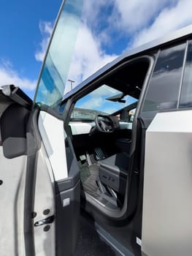
M39 50L35 53L37 61L43 61L47 50L47 45L53 31L53 23L47 21L39 22L39 30L42 34L42 41L39 43Z

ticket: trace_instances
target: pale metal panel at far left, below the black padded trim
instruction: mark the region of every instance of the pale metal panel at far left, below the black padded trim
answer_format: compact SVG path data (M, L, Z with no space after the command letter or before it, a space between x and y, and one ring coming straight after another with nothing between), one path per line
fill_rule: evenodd
M0 186L0 255L25 255L23 200L27 157L7 159L0 146L0 162L3 182Z

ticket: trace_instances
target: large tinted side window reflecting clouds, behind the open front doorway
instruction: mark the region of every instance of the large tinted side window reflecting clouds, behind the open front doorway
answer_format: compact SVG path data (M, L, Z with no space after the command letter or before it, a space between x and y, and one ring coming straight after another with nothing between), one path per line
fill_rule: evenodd
M185 44L161 50L147 91L143 112L177 108ZM154 112L155 111L155 112Z

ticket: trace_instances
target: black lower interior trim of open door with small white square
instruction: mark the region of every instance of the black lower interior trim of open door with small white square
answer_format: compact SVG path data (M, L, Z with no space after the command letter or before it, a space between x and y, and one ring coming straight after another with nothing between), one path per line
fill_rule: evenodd
M55 183L57 253L74 255L80 228L80 169L69 137L65 139L68 177Z

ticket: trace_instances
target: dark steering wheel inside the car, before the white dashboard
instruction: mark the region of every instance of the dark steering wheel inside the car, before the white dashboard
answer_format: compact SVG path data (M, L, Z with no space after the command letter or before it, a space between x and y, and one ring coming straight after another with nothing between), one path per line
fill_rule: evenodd
M99 132L113 132L115 130L115 125L110 116L97 115L95 121Z

